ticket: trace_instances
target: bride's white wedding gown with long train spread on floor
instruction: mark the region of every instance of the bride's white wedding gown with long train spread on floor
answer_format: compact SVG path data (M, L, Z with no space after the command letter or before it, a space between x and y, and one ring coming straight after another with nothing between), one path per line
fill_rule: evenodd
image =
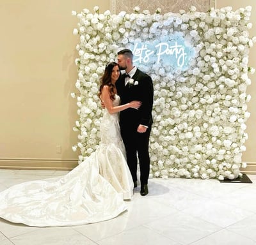
M120 98L116 96L114 105ZM124 158L118 114L104 109L97 151L67 175L16 184L0 193L0 217L29 226L72 226L127 210L133 181Z

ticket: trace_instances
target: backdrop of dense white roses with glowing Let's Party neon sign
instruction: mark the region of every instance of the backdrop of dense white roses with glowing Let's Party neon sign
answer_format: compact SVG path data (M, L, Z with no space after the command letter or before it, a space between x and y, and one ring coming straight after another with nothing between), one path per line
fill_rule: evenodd
M141 70L154 81L154 125L150 177L234 179L246 167L242 154L251 84L248 30L251 7L207 13L161 14L135 7L133 13L72 11L79 22L76 59L79 120L74 130L79 163L97 149L102 108L99 80L118 50L130 48ZM153 50L153 49L156 50ZM158 48L158 49L157 49ZM173 59L174 57L174 59Z

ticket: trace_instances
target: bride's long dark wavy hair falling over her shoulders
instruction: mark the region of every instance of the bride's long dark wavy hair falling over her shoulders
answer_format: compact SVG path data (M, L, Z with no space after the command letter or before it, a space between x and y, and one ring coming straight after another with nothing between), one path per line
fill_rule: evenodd
M104 74L100 78L100 88L99 88L99 93L98 93L99 98L102 94L102 89L103 89L104 85L108 85L110 99L115 100L115 85L111 84L111 74L112 74L113 68L115 66L119 67L119 65L116 62L111 62L106 65ZM101 98L100 98L100 100L101 100Z

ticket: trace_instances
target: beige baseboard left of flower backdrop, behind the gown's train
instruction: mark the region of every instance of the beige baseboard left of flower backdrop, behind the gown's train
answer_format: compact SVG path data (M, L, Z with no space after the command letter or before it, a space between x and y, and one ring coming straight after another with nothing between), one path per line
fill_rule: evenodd
M0 158L0 168L8 169L72 170L77 164L77 159Z

